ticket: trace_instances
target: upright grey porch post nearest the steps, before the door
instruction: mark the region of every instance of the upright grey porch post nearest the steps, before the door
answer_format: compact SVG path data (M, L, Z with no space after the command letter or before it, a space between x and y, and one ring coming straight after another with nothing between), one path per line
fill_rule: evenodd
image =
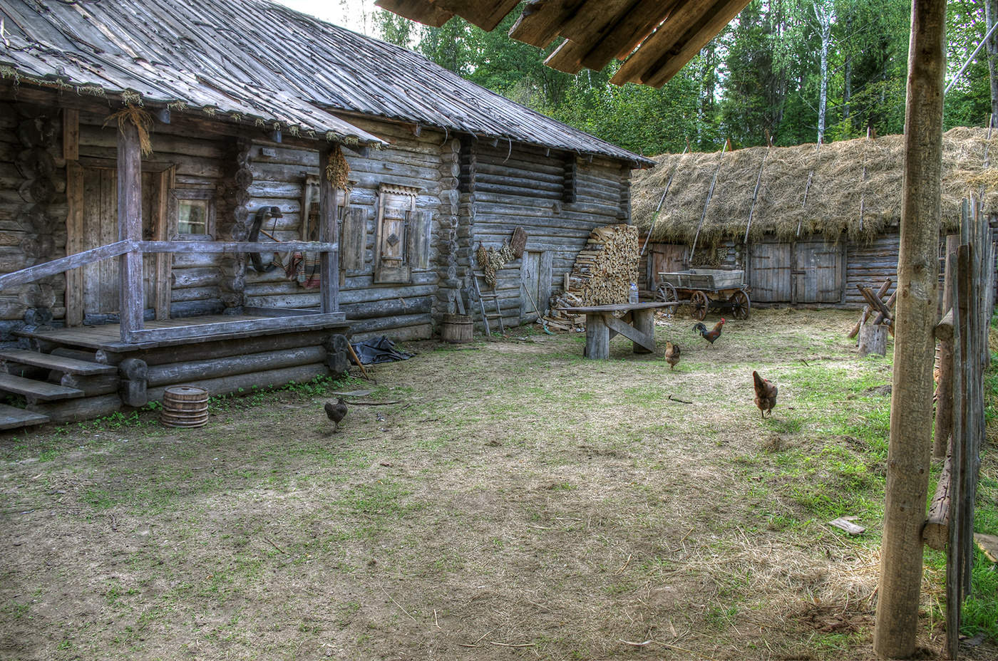
M118 132L118 240L142 240L142 153L139 130L124 122ZM142 253L126 252L119 257L121 274L121 337L132 339L142 330Z

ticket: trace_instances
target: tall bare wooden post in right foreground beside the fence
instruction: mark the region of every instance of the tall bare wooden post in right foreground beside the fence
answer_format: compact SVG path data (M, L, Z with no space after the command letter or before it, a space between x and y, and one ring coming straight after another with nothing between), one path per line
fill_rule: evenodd
M946 1L914 0L908 48L894 375L873 651L915 651L932 448Z

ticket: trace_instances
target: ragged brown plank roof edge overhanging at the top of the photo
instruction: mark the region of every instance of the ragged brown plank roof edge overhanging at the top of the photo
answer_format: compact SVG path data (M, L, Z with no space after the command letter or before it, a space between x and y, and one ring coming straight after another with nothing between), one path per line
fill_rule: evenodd
M518 0L377 0L399 16L441 26L460 16L491 31ZM538 48L564 37L545 64L570 74L624 64L611 83L660 88L745 9L749 0L531 0L509 36Z

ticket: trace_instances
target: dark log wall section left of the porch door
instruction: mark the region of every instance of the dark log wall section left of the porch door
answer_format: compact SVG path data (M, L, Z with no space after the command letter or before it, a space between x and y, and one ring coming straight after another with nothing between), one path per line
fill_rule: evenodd
M41 132L30 128L35 120ZM31 150L51 158L54 166L46 175L25 167ZM66 254L66 171L61 163L58 110L0 103L0 274ZM0 342L12 341L10 331L26 323L65 318L65 291L65 278L52 277L0 292Z

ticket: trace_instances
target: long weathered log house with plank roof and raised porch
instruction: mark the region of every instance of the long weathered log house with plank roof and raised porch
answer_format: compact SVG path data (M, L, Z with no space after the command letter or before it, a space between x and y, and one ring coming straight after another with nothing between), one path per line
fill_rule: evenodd
M347 336L476 310L473 248L517 226L497 292L530 320L521 283L546 301L652 165L265 0L0 18L0 391L30 410L0 428L342 372Z

